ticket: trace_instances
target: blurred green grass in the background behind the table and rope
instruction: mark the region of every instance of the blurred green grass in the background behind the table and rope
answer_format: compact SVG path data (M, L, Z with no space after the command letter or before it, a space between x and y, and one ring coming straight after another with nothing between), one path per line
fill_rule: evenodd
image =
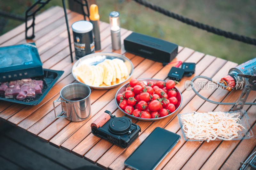
M169 11L195 21L256 38L255 0L149 0ZM15 3L13 3L15 2ZM0 0L0 8L10 8L10 12L25 15L28 2L33 0ZM21 5L19 3L23 3ZM68 4L68 3L66 3ZM243 42L208 33L164 16L131 0L98 0L100 20L109 22L110 11L120 12L120 23L128 30L151 35L183 47L192 48L204 54L213 55L236 63L243 63L256 56L256 48ZM52 0L44 10L52 5L62 6L60 0ZM8 20L4 32L21 22ZM1 34L3 34L2 32Z

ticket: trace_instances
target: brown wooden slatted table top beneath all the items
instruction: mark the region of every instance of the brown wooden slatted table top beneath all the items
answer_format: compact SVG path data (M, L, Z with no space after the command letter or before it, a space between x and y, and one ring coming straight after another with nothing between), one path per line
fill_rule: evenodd
M76 12L67 11L69 26L83 16ZM129 169L124 166L124 160L156 127L163 127L178 133L181 130L178 123L178 113L229 111L231 106L215 105L205 102L192 90L185 89L185 81L191 80L197 75L211 77L220 80L228 73L228 70L237 64L211 55L194 51L193 49L179 47L178 55L173 61L185 61L196 63L196 72L191 77L184 77L180 84L176 85L182 92L182 105L178 112L165 119L147 122L132 119L141 128L139 138L128 148L123 149L104 139L92 135L90 124L96 120L102 112L109 110L116 116L123 116L115 103L114 97L119 87L109 90L93 90L91 93L92 114L82 122L70 122L65 118L54 117L53 100L59 96L60 89L69 83L75 82L71 75L70 54L68 36L65 25L64 12L61 7L55 6L36 16L35 38L43 68L52 70L64 70L64 74L45 96L44 100L36 106L27 106L11 102L0 101L0 119L40 138L51 145L71 152L104 169ZM70 28L71 29L71 28ZM122 42L130 33L129 30L121 30ZM100 22L101 51L122 54L129 58L134 65L132 78L158 78L168 80L167 73L172 64L163 66L143 57L127 53L124 46L120 50L113 51L109 24ZM71 31L71 36L72 31ZM71 38L71 41L73 39ZM21 24L8 33L1 35L0 46L8 46L27 42L25 40L25 24ZM72 41L73 43L73 41ZM72 44L73 52L74 45ZM73 54L73 56L75 56ZM228 92L220 89L202 89L203 96L223 102L235 102L241 91ZM255 102L256 93L252 91L247 102ZM57 107L60 109L60 105ZM256 107L244 106L251 120L252 129L256 130ZM156 169L238 169L240 162L244 161L255 150L256 139L244 139L235 141L211 141L210 143L198 141L185 141L183 138L176 144L172 151L164 158ZM40 147L40 146L39 146Z

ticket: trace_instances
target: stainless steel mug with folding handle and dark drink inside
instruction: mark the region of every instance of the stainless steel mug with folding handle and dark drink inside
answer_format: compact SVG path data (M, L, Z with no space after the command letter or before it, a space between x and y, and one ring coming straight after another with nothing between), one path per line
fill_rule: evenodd
M72 122L80 122L91 114L91 89L82 83L71 83L60 90L60 97L53 101L55 117L65 117ZM56 115L55 102L61 102L61 113Z

